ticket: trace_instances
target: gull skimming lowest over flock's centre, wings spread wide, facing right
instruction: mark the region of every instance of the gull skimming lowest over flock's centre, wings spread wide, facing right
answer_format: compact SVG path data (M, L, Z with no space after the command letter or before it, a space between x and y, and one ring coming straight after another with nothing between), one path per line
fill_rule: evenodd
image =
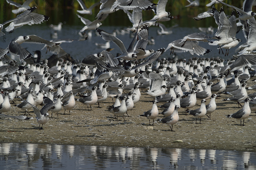
M148 60L146 62L138 64L137 66L133 67L130 70L116 69L116 68L113 68L113 67L109 68L109 67L105 67L105 66L103 66L103 67L105 69L108 69L108 70L123 72L122 74L117 76L117 77L121 78L121 81L122 81L123 77L134 77L137 74L139 74L139 72L140 72L139 68L140 67L146 66L146 65L151 64L152 62L154 62L156 59L158 59L163 54L164 50L165 50L164 48L158 49L154 54L152 54L150 57L148 57ZM128 80L128 78L127 78L127 80Z

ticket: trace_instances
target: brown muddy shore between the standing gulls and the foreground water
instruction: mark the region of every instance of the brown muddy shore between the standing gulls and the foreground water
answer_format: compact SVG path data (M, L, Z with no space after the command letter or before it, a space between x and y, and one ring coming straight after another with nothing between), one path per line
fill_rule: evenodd
M250 83L250 85L253 85ZM254 91L248 91L254 93ZM141 93L141 99L135 107L128 111L125 120L108 111L112 99L87 109L83 104L76 102L71 114L64 115L64 110L53 114L51 120L43 125L41 130L35 119L33 110L29 110L34 119L17 120L10 118L0 119L0 142L36 143L36 144L67 144L67 145L97 145L97 146L125 146L125 147L157 147L157 148L189 148L189 149L220 149L256 151L256 114L251 112L245 119L245 126L240 126L240 120L226 118L227 114L237 112L238 104L224 101L228 95L221 95L216 99L217 109L211 114L211 120L203 117L201 124L196 124L196 118L185 115L180 108L179 121L173 126L174 131L164 123L155 120L154 126L149 125L146 117L139 116L152 108L149 101L153 98ZM207 100L209 103L210 100ZM19 99L15 103L21 103ZM159 103L158 106L161 104ZM199 108L200 101L196 106ZM39 109L41 106L38 107ZM159 108L159 112L163 109ZM51 112L48 112L51 116ZM9 115L23 115L24 112L13 106ZM159 114L159 118L162 115ZM152 121L151 121L152 122Z

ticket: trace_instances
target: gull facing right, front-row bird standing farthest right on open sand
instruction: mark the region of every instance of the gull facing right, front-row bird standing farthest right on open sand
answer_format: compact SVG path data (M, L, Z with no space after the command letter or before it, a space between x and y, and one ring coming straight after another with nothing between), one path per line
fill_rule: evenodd
M242 126L242 119L248 118L251 114L251 108L249 106L250 101L253 102L253 100L251 100L250 98L246 98L244 102L244 107L231 115L230 114L227 115L227 117L240 120L240 126ZM243 122L243 126L244 126L244 122Z

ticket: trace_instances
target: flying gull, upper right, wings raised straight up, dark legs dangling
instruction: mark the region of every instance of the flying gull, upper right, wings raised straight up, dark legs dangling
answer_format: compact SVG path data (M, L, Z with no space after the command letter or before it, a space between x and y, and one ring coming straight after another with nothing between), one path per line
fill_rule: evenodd
M224 13L223 8L220 8L220 13L213 7L213 16L215 18L216 23L218 24L218 31L215 33L215 37L218 39L216 41L210 41L209 45L219 45L219 54L220 50L222 54L224 54L223 50L221 49L221 45L225 45L231 43L232 41L236 40L235 37L229 37L229 29L230 24L229 20ZM213 37L214 38L214 37Z

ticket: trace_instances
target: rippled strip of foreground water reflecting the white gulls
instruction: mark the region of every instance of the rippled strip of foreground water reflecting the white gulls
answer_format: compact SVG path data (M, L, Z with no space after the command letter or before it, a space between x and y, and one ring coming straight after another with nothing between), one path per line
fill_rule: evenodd
M255 152L0 144L1 169L256 169Z

